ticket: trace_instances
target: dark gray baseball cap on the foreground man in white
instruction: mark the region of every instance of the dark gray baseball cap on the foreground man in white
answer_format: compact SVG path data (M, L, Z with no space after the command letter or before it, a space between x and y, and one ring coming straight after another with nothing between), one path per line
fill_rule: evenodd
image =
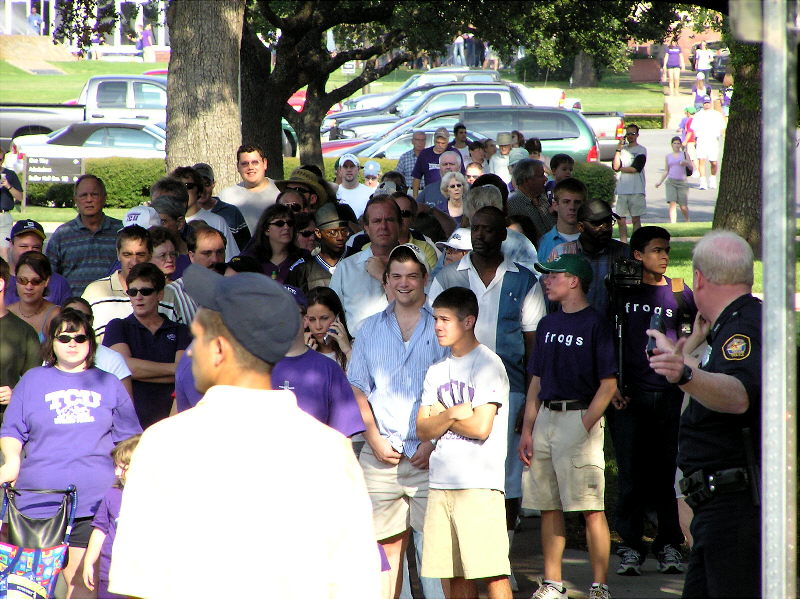
M192 264L183 273L186 291L203 308L219 312L234 338L254 356L275 364L300 327L294 297L263 274L223 277Z

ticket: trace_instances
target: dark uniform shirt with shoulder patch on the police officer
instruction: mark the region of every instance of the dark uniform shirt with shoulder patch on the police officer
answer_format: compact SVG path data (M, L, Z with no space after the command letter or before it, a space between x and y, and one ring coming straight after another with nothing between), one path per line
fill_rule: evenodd
M742 429L749 428L756 460L761 447L761 301L737 298L717 318L700 368L736 377L750 405L744 414L723 414L691 399L681 417L678 466L684 475L747 466Z

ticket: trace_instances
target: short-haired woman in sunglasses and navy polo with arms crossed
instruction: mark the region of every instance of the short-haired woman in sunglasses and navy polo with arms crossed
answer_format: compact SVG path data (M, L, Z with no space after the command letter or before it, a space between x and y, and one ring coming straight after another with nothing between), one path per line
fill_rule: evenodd
M142 428L169 416L175 367L189 347L189 327L158 311L166 278L155 264L134 266L126 278L133 314L106 326L103 345L122 354L133 378L133 405Z

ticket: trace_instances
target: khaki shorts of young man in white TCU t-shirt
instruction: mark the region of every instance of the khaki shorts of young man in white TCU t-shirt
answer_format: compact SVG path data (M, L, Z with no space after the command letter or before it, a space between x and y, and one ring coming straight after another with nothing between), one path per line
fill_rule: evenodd
M431 489L425 513L422 576L508 576L506 503L494 489Z

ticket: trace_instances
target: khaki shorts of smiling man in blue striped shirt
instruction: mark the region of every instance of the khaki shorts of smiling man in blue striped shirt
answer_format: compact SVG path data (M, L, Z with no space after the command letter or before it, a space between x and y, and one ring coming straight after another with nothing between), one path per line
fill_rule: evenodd
M376 539L383 541L409 527L422 532L428 502L428 471L413 466L406 456L395 466L379 462L369 444L364 444L358 461L372 500Z

